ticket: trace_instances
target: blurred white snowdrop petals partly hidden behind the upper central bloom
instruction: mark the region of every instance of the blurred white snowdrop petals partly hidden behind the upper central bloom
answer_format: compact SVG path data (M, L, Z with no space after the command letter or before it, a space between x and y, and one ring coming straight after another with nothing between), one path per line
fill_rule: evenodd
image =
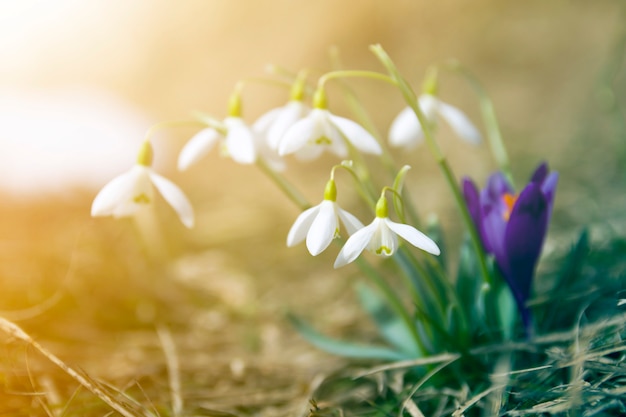
M278 145L285 132L310 111L302 100L290 100L286 105L263 114L252 128L266 138L270 149L278 151Z

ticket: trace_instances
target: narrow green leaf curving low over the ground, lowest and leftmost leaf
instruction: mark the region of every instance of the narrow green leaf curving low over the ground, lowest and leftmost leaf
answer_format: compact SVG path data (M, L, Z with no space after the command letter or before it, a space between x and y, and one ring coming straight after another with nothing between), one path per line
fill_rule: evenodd
M324 336L291 313L287 314L287 319L309 343L333 355L353 359L378 359L385 361L397 361L411 358L402 352L390 348L345 342Z

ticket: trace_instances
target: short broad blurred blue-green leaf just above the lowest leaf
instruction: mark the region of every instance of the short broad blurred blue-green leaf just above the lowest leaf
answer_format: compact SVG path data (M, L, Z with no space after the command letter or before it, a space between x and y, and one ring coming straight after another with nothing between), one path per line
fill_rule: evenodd
M385 299L369 286L358 283L356 287L359 301L363 309L372 318L380 335L390 344L405 352L407 356L417 358L422 356L419 346L404 321L393 311Z

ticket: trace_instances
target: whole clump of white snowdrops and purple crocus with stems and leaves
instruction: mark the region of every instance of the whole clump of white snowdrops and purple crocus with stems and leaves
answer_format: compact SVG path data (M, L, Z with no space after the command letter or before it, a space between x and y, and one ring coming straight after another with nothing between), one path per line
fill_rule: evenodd
M287 80L290 95L286 104L253 124L242 117L245 82L239 83L228 102L226 118L199 116L205 127L180 152L179 169L202 163L214 148L236 163L257 164L302 209L289 230L288 246L305 242L315 256L333 241L342 243L334 267L355 262L362 270L370 285L364 287L360 298L385 345L330 340L295 321L301 333L321 348L354 357L402 359L464 351L477 342L531 335L533 317L527 301L558 174L550 172L547 164L539 164L530 181L516 192L491 101L476 79L457 64L452 71L464 76L477 92L489 146L500 167L482 190L469 178L459 180L434 137L437 125L447 123L461 139L475 145L483 142L480 130L461 110L438 97L440 71L428 71L416 93L382 47L375 45L371 50L384 72L337 69L320 76L317 83L310 82L306 71L293 74ZM443 257L437 256L443 250L440 225L422 227L408 187L404 187L409 167L395 164L386 143L372 133L367 112L345 87L343 81L351 77L387 83L403 96L406 108L391 122L387 143L408 149L423 143L437 161L466 226L455 274ZM334 86L349 98L346 101L352 106L354 120L333 114L326 92L331 80L337 80ZM104 186L93 201L91 213L141 216L158 191L181 222L193 227L194 212L188 198L151 168L152 131L135 166ZM305 163L324 152L335 155L338 162L330 167L322 201L311 205L285 177L285 158ZM363 154L380 157L390 174L388 185L375 185ZM338 205L335 175L340 170L354 178L360 196L371 207L374 219L368 225ZM344 236L341 230L345 230ZM362 255L365 250L389 262L374 266ZM400 275L406 287L398 289L397 280L392 285L389 274Z

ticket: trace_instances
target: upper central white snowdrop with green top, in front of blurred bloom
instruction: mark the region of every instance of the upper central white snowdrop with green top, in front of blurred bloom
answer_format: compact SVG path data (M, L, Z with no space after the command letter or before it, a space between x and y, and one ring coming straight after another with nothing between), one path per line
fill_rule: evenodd
M365 128L328 110L324 90L318 89L313 110L285 132L278 144L278 154L295 154L299 159L311 160L328 150L345 158L348 156L347 142L361 152L382 154L380 144Z

